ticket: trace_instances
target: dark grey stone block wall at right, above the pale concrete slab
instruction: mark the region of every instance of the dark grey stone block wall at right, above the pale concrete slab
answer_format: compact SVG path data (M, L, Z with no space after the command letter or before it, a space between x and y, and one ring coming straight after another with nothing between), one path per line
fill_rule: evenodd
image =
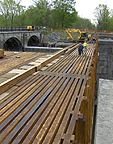
M99 78L113 80L113 40L98 39L96 91Z

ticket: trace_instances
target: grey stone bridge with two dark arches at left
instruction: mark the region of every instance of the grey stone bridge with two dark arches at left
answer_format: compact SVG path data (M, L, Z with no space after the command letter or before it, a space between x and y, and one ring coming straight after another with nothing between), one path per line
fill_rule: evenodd
M39 46L42 39L41 31L0 32L0 48L9 51L24 51L25 46Z

